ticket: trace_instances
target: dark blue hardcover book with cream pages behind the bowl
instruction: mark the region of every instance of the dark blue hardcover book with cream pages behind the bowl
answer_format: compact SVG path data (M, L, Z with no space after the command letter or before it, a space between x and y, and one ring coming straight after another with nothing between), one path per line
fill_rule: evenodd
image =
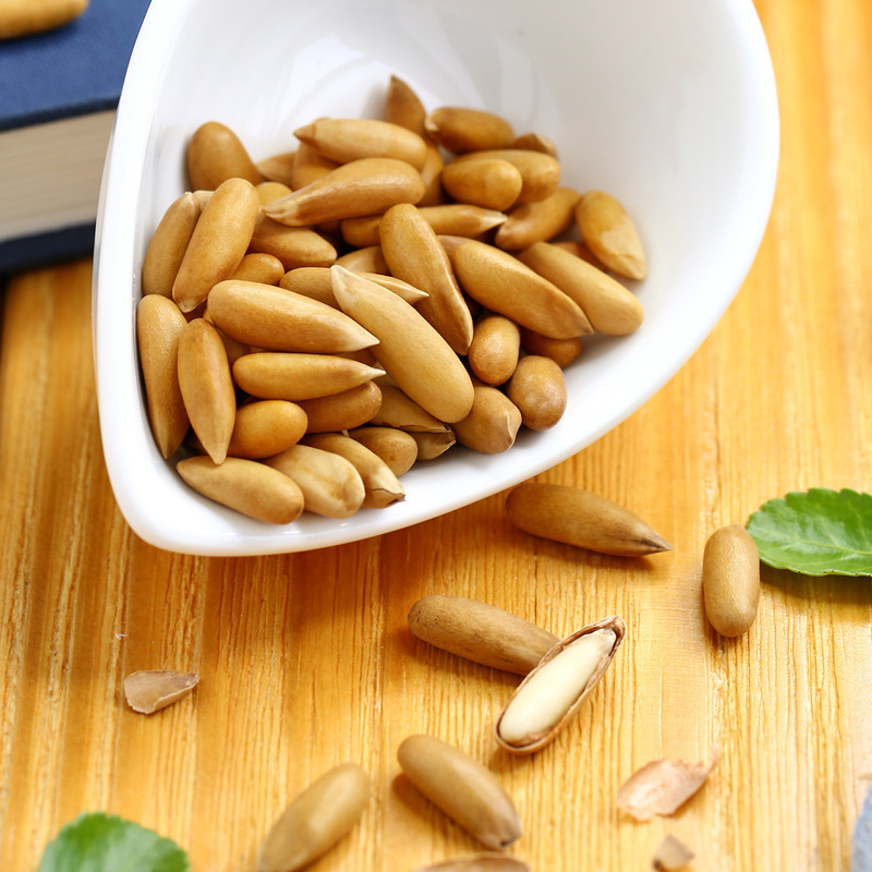
M149 0L90 0L55 31L0 41L0 272L94 246L100 179Z

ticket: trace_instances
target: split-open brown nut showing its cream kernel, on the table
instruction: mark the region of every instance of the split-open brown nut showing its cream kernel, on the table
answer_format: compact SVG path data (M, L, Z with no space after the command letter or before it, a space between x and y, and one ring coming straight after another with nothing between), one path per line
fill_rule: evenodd
M589 664L589 666L593 666L590 671L588 671L588 668L585 667L583 675L573 676L571 674L571 669L561 669L561 674L555 676L554 673L558 663L558 658L565 657L568 649L582 644L586 639L594 639L594 634L600 635L601 631L605 631L606 633L606 647L598 652L595 664ZM508 703L506 703L502 712L500 712L494 727L494 734L500 748L513 754L531 754L535 751L540 751L546 744L553 742L567 727L567 725L578 715L581 706L584 704L584 701L593 692L596 683L603 677L603 674L615 657L615 652L623 641L626 631L627 628L623 621L617 615L613 615L611 617L603 618L595 623L582 627L582 629L577 630L571 635L568 635L566 639L558 642L538 662L538 664L536 664L536 667L526 676L526 678L524 678L524 680L511 695L511 699L508 701ZM568 676L566 675L567 671L569 671ZM562 707L559 714L552 713L555 714L556 717L545 718L549 722L546 724L542 719L541 711L541 708L546 708L546 705L540 705L540 711L532 713L535 715L534 719L536 722L541 722L538 724L538 728L526 732L526 735L523 737L512 738L509 740L506 736L507 730L505 727L505 723L509 716L509 713L519 705L528 705L531 702L534 704L541 704L543 700L549 700L549 698L554 698L559 693L559 682L565 682L567 678L570 680L573 678L580 678L584 680L580 687L573 688L574 692L571 694L571 699L568 701L568 704ZM534 689L538 689L540 686L543 686L542 691L535 692ZM531 691L534 691L534 695L532 698L530 695Z

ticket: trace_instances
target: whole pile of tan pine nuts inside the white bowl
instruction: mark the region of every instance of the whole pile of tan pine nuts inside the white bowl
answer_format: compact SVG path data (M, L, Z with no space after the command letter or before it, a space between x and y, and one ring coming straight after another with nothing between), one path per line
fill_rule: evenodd
M561 186L545 136L397 77L384 120L294 133L255 164L199 126L143 263L152 429L204 496L277 524L389 506L416 461L556 424L581 337L641 324L631 218Z

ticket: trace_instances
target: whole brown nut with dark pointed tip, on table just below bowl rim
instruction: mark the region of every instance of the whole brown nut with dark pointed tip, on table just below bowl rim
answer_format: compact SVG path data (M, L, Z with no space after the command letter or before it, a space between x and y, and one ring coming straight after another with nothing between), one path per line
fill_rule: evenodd
M506 499L506 513L526 533L602 554L641 557L671 548L629 509L569 485L524 482Z

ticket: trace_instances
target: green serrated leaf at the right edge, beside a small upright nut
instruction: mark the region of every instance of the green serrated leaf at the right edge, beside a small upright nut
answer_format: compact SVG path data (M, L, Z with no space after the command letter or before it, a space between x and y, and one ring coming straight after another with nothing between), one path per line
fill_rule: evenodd
M760 559L804 576L872 576L872 494L807 492L771 499L748 519Z

